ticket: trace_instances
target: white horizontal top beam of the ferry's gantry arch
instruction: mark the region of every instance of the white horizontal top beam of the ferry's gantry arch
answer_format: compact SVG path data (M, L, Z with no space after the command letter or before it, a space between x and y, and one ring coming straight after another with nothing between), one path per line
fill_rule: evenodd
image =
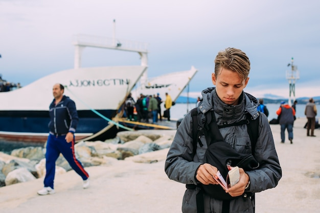
M74 42L75 45L94 45L110 48L127 49L136 52L148 52L148 43L139 41L130 41L124 39L109 38L104 36L92 36L92 35L75 35Z

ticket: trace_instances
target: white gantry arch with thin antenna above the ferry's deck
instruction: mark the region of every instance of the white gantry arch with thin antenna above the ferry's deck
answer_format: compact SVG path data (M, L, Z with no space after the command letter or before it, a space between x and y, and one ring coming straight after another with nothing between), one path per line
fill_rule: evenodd
M140 55L141 66L148 66L148 44L138 41L116 39L116 20L113 19L113 37L91 36L91 35L76 35L73 44L75 45L75 69L81 67L82 51L86 47L104 48L111 50L122 50L136 52ZM147 71L144 72L140 79L141 86L147 82Z

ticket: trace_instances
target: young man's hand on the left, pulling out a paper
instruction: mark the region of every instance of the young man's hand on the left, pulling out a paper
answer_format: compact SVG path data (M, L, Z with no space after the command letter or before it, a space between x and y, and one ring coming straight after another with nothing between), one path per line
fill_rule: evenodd
M196 178L204 185L219 184L213 176L216 176L218 169L209 163L201 164L197 169Z

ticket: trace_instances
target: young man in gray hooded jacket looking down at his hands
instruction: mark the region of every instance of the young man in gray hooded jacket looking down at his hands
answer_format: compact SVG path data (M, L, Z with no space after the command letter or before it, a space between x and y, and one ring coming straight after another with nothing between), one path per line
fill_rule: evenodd
M275 187L282 176L267 117L257 111L257 99L243 91L249 80L249 70L250 61L241 50L227 48L220 51L215 59L215 72L212 74L215 87L202 91L203 101L198 106L201 113L213 110L218 125L245 120L247 113L253 120L259 120L258 139L253 152L246 124L220 129L226 143L239 153L252 153L259 162L259 167L252 171L244 172L239 168L238 183L225 190L225 193L234 198L228 203L228 212L254 212L254 196L247 194ZM201 136L201 143L194 143L196 138L193 138L193 125L196 124L192 122L190 111L177 129L165 163L165 172L170 179L195 185L188 187L185 192L182 201L182 212L185 213L197 212L196 197L201 191L201 185L218 184L215 180L218 178L217 168L203 163L207 142L204 136ZM194 145L197 146L196 149ZM204 193L204 212L223 212L223 202Z

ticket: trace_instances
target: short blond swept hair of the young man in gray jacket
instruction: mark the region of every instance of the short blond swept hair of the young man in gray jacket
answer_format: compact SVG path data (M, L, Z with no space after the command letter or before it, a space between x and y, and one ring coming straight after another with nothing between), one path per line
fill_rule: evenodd
M241 79L247 79L250 72L250 61L247 55L236 48L226 48L220 51L215 58L215 75L218 76L220 68L237 72Z

